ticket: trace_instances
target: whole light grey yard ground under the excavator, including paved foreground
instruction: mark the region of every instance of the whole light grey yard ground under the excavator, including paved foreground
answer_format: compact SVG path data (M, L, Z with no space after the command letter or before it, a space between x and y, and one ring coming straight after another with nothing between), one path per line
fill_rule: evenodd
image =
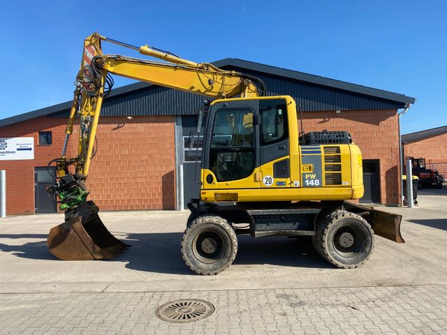
M447 190L420 191L404 217L406 244L376 237L358 269L332 267L309 238L239 238L235 263L193 274L179 251L188 213L101 213L132 244L105 261L64 262L45 244L63 216L0 221L0 335L447 334ZM176 299L214 306L177 323L156 311Z

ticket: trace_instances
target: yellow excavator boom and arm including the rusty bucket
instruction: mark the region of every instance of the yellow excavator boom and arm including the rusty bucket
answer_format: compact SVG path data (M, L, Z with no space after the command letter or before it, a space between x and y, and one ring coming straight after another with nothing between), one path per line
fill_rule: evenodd
M105 55L101 46L105 41L159 60ZM265 94L263 82L256 77L221 70L208 63L188 61L147 45L135 47L98 33L87 37L76 76L62 154L49 163L49 166L56 163L57 183L47 191L50 198L59 203L59 209L65 211L65 222L50 230L47 246L62 260L111 258L127 248L105 228L98 216L98 207L87 201L89 192L85 186L91 158L96 154L96 128L101 105L113 85L111 74L210 98ZM77 156L68 158L66 152L75 119L79 119L78 152Z

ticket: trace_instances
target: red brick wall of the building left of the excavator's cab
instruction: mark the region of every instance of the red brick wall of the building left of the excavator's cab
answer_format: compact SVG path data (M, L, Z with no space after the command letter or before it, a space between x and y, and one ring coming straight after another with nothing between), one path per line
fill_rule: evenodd
M6 170L8 214L34 213L34 167L59 157L66 119L41 117L0 128L0 137L34 137L34 160L0 161ZM98 154L91 162L89 199L101 209L175 208L174 117L103 118ZM38 146L38 131L52 131L53 144ZM78 127L75 127L75 134ZM68 156L75 156L76 136Z

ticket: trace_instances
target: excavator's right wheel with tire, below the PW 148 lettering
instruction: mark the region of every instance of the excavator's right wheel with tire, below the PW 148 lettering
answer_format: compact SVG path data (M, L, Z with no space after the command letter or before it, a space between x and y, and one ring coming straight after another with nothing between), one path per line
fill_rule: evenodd
M316 250L328 262L342 269L362 265L374 249L374 232L358 214L337 210L316 230Z

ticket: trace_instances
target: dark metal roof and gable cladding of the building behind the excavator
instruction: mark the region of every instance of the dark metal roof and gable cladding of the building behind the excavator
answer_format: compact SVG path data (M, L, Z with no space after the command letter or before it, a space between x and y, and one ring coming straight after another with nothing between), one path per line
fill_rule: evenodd
M284 68L244 61L221 59L213 64L237 70L264 80L268 94L290 95L303 111L390 110L402 108L415 99L402 94L309 75ZM189 92L159 87L144 82L112 89L103 102L104 117L189 115L194 114L205 98ZM207 99L209 100L209 99ZM71 101L0 120L0 127L36 117L67 117Z

